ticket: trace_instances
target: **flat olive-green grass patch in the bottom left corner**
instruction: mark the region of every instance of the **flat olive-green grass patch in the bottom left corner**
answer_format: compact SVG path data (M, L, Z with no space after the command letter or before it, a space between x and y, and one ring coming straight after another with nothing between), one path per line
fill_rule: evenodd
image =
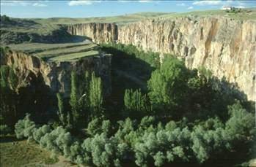
M14 137L0 138L0 166L36 166L38 164L56 163L51 153L40 149L37 144L16 141Z

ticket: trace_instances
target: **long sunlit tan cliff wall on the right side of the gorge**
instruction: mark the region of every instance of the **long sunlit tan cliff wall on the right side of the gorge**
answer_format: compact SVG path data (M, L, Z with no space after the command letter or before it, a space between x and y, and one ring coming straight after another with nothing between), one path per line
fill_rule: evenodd
M256 22L228 18L145 20L118 28L118 42L172 53L236 82L255 101Z

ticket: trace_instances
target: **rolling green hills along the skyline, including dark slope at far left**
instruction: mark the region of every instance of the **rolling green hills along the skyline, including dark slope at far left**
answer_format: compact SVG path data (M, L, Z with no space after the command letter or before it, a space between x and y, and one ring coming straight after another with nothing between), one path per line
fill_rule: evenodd
M22 42L70 42L73 36L67 34L63 25L77 23L133 23L150 18L222 16L238 20L256 20L256 9L242 9L241 12L225 12L224 10L194 11L184 13L173 12L140 12L129 15L98 18L4 18L1 17L1 44L18 44Z

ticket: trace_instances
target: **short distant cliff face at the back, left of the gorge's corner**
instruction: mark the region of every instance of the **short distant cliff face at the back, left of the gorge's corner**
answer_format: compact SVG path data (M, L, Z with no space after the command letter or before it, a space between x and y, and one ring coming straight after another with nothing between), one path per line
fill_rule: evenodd
M115 42L118 32L114 23L84 23L67 26L67 32L72 35L88 36L95 43Z

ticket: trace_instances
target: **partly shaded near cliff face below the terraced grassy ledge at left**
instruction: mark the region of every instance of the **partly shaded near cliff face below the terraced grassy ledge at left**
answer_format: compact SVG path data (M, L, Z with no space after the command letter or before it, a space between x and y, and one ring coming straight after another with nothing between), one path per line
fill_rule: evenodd
M81 61L45 62L40 58L25 53L8 50L1 56L1 64L13 66L19 78L19 85L29 84L33 77L41 78L54 93L70 95L70 74L76 71L95 71L103 79L105 95L111 93L111 56L100 55L83 58Z

